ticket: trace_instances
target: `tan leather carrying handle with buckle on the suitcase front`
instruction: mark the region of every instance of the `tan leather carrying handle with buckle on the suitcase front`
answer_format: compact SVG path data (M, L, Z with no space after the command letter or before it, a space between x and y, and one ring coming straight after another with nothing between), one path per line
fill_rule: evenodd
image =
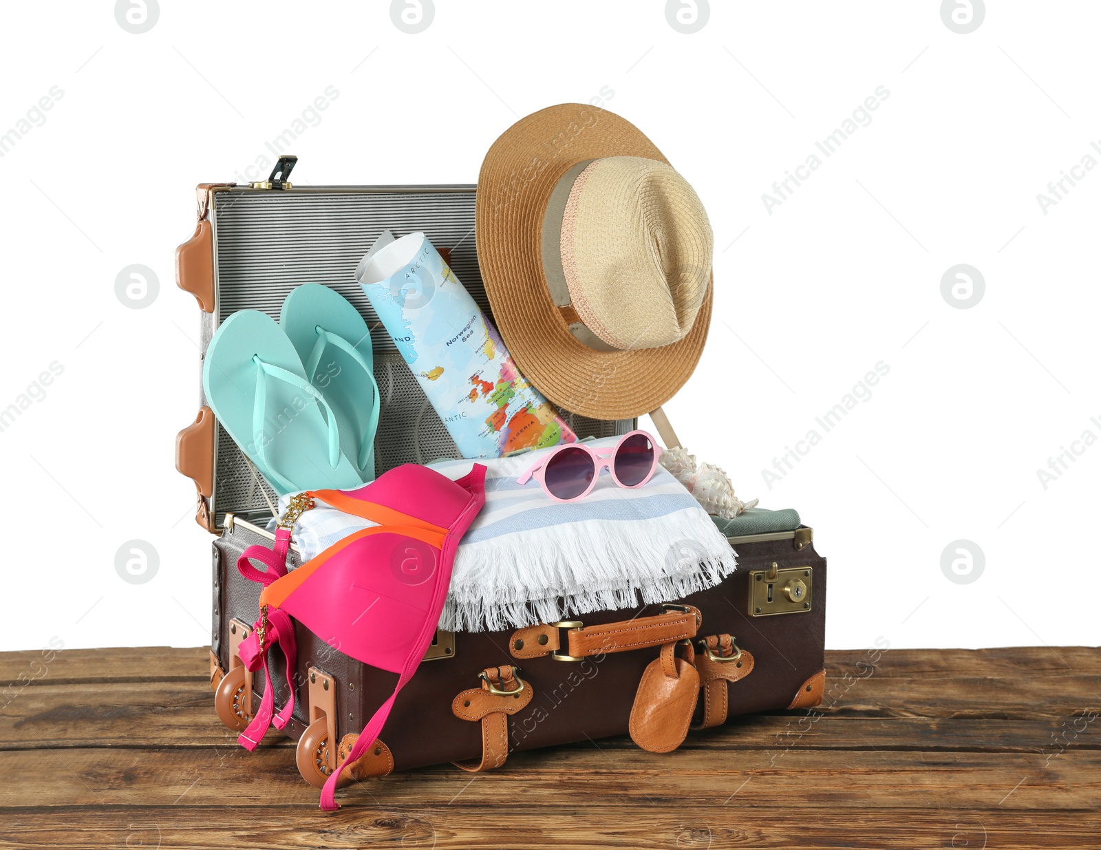
M604 625L585 625L566 632L566 654L575 658L630 652L647 646L661 646L696 636L702 622L699 609L685 606L687 611L665 611L651 617L636 617ZM542 639L546 638L543 642ZM515 658L538 658L562 649L558 630L549 624L530 625L513 632L509 651Z

